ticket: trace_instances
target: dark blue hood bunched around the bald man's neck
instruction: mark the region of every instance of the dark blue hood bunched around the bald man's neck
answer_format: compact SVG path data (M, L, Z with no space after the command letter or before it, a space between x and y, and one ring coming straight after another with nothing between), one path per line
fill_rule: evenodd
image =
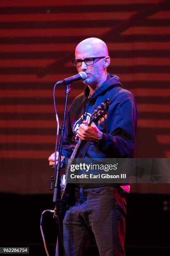
M91 95L89 102L90 101L95 101L96 98L101 95L103 92L111 89L112 87L116 87L116 86L120 86L123 88L122 84L119 82L119 77L116 75L112 75L110 73L107 72L107 78L106 81L99 87L97 88L97 90L95 90L95 92ZM90 94L90 90L89 87L86 85L85 87L85 99L88 98L89 94Z

